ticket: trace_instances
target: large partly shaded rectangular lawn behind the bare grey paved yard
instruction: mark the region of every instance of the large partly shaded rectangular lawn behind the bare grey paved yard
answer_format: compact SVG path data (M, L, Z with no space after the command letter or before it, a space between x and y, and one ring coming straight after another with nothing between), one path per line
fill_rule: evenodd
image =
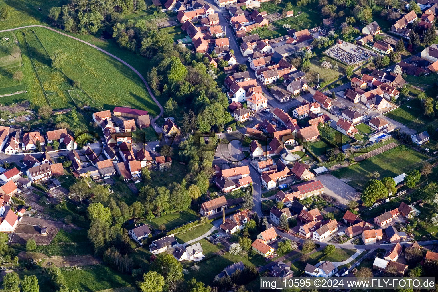
M380 173L380 177L398 176L412 169L419 168L421 162L427 157L404 145L399 145L381 154L367 158L348 167L337 169L332 175L339 179L347 180L350 186L360 189L373 177L374 172Z

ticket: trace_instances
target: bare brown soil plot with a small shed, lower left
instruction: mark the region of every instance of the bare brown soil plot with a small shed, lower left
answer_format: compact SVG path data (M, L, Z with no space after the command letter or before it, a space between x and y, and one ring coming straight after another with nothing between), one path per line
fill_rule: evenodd
M35 239L37 245L47 245L55 238L63 223L32 217L23 217L15 229L11 243L25 244L28 239ZM47 228L47 235L41 235L41 227Z

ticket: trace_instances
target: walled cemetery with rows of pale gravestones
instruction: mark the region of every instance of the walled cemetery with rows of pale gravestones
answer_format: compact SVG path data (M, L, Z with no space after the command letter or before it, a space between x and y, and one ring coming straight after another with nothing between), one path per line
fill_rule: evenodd
M365 62L370 57L379 56L378 53L374 53L369 49L364 49L363 47L350 44L348 42L341 41L342 44L336 44L331 48L327 49L324 53L325 55L339 60L340 62L347 65L355 65L358 63Z

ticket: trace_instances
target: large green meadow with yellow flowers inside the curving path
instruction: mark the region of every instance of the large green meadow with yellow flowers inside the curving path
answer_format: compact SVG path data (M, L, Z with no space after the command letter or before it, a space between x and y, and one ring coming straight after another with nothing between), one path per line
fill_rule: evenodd
M146 109L152 116L159 113L158 106L148 95L140 77L122 63L90 46L45 28L35 28L34 31L36 35L30 30L15 32L23 56L21 70L24 80L19 88L28 90L28 93L17 95L18 100L27 99L37 106L47 104L48 100L54 109L81 102L102 106L104 109L131 106ZM25 35L23 32L26 32ZM58 48L67 54L68 61L64 63L62 72L50 67L50 56ZM119 55L123 55L122 52ZM134 59L129 59L130 63L134 63ZM18 85L11 81L12 73L5 74L6 77L0 74L0 81L6 81L0 83L0 93L11 92L13 90L9 87ZM67 92L74 89L71 87L73 80L81 81L84 91ZM48 94L47 99L43 88ZM14 102L15 99L17 98L14 97ZM3 102L2 99L2 103L7 104L7 101Z

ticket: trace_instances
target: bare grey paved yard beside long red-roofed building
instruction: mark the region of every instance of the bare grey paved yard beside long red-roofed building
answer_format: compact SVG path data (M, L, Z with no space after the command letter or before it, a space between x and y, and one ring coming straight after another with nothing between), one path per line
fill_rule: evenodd
M356 189L331 174L323 174L314 178L314 180L317 179L324 186L324 193L336 199L336 205L341 208L345 209L348 201L360 199L360 193Z

